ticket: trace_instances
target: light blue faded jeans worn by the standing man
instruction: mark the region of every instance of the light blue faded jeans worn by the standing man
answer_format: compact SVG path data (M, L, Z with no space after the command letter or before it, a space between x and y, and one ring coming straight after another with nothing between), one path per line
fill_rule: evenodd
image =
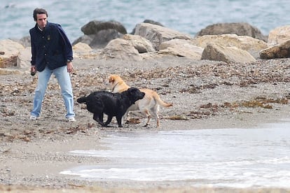
M67 72L67 66L62 66L54 70L50 70L48 67L46 67L46 69L39 72L39 80L34 94L33 110L31 115L39 117L41 113L41 104L44 95L46 94L48 81L52 74L54 74L57 78L57 82L60 85L62 91L64 105L67 108L67 115L65 117L74 117L74 95L71 88L71 79L69 73Z

